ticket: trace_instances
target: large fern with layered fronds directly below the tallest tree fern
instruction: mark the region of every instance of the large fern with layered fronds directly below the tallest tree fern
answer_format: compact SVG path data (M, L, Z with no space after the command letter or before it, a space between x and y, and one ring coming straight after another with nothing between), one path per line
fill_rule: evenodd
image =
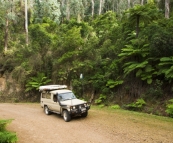
M153 65L150 64L148 58L149 44L142 39L131 40L131 45L126 45L126 48L121 49L121 53L118 55L121 60L127 61L124 63L124 76L129 75L131 72L136 73L136 77L140 77L141 80L146 80L148 84L152 83L152 76L157 72Z

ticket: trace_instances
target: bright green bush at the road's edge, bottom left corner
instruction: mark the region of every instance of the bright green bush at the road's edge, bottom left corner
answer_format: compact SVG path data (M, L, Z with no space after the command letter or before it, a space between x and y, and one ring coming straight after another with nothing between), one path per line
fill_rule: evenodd
M17 142L16 133L6 130L7 124L12 120L0 120L0 143L15 143Z

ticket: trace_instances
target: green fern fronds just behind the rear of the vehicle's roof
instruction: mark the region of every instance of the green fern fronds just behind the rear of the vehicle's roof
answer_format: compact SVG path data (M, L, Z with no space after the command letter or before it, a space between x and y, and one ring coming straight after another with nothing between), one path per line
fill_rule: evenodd
M44 73L37 73L37 77L30 77L26 84L26 92L36 89L38 90L41 85L49 83L51 80L47 79Z

